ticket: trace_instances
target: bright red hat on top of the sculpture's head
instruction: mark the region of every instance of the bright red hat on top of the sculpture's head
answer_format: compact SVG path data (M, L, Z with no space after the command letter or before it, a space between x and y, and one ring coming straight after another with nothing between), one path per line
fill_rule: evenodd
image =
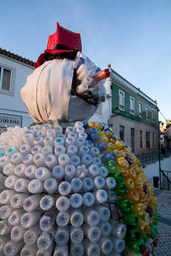
M75 48L77 48L77 51L82 51L80 34L73 33L70 30L59 26L58 22L56 22L56 25L56 33L48 36L47 49L40 54L36 61L36 68L40 67L46 61L45 56L47 54L57 55L64 52L73 52Z

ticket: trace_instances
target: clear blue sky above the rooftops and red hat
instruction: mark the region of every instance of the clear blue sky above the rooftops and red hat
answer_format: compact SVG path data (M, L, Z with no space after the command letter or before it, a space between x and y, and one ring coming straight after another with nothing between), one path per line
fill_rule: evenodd
M82 52L96 65L111 63L171 120L170 13L170 0L1 1L0 47L36 61L58 21L80 33Z

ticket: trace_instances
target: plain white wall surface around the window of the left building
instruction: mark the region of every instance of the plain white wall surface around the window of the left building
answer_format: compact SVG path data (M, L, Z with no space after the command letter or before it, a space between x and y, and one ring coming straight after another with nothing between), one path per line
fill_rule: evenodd
M0 63L16 68L14 96L0 93L0 113L22 116L22 127L32 124L33 120L20 97L20 90L26 84L27 76L33 73L34 67L4 56L0 56Z

